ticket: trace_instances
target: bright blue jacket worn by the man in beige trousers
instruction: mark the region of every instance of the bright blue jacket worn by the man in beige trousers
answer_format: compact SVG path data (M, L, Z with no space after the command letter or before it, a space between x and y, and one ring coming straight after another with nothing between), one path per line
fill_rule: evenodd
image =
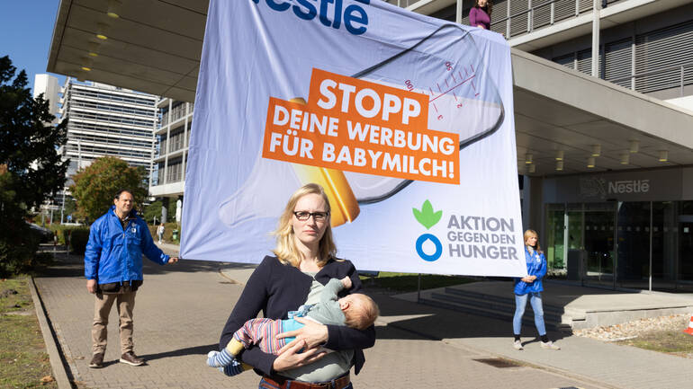
M149 228L137 212L130 212L123 229L115 206L96 219L89 231L85 250L85 277L99 284L142 279L142 253L150 261L164 265L168 255L151 239Z

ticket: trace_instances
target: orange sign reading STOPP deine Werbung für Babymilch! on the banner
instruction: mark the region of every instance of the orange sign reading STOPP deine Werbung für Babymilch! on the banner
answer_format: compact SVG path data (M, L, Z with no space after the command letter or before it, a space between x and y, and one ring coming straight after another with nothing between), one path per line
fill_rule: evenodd
M459 135L428 129L427 95L315 68L307 104L270 98L262 156L407 180L460 182Z

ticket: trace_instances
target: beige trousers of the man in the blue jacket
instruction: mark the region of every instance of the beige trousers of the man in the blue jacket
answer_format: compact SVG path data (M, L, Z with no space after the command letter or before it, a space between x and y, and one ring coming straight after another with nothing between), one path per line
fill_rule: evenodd
M132 351L132 310L135 308L137 292L114 295L96 295L94 302L94 324L92 326L92 350L94 354L106 351L108 336L108 315L113 302L116 303L120 318L121 354Z

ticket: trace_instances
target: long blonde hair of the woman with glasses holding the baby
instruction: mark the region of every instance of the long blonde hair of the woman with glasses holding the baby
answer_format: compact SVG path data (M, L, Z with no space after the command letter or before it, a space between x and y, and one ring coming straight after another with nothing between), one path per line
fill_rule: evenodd
M292 197L289 198L289 202L286 203L286 207L284 208L284 213L279 217L279 225L273 233L276 235L276 248L272 252L275 253L276 257L279 261L284 263L284 265L292 265L294 268L298 268L303 260L303 254L296 246L293 235L293 208L296 207L296 203L298 203L299 199L309 194L320 195L325 201L325 207L327 207L325 210L329 212L329 199L328 195L325 194L325 190L317 183L303 185L301 188L294 191ZM318 254L320 255L318 266L320 266L320 268L325 266L330 258L334 258L337 255L337 246L335 246L335 241L332 239L332 227L329 225L329 217L325 220L325 223L328 225L325 228L325 234L322 235L318 247Z

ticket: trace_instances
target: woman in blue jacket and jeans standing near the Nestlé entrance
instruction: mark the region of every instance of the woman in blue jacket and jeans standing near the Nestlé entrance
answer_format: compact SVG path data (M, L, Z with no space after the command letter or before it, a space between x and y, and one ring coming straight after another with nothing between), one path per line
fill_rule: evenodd
M525 231L525 260L527 261L527 276L515 278L515 316L512 320L512 330L515 335L513 347L523 349L520 340L520 330L522 329L522 315L525 314L527 297L529 304L535 312L536 331L541 337L542 349L561 349L546 336L544 324L544 307L542 306L541 292L542 278L546 275L546 257L539 245L539 235L535 230Z

